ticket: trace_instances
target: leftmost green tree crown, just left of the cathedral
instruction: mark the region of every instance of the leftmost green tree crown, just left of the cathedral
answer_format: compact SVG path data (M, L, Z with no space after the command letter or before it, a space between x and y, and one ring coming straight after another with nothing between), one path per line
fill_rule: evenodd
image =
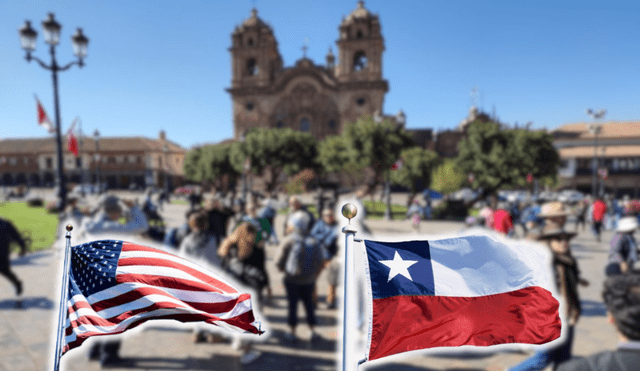
M189 151L184 163L185 177L192 182L211 182L219 187L223 177L228 176L234 184L240 172L230 161L232 145L221 143Z

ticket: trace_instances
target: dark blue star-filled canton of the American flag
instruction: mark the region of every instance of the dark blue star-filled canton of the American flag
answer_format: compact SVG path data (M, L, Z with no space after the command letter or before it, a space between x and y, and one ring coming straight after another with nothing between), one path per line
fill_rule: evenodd
M122 241L93 241L71 248L69 294L88 297L116 285Z

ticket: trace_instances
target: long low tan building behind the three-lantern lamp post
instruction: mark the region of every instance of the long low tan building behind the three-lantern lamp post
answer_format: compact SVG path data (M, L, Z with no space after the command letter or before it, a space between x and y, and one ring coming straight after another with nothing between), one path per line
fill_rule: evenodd
M81 140L78 157L63 151L67 182L97 183L98 175L110 189L158 186L184 182L185 150L166 139L107 137ZM63 141L63 145L66 145ZM53 186L58 161L55 137L0 140L0 184Z

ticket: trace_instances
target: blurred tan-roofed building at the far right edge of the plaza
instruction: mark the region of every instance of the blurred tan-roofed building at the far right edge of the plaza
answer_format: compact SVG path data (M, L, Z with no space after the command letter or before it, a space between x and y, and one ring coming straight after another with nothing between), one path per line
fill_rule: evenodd
M552 131L562 168L563 187L591 194L640 196L640 121L603 122L596 136L593 123L567 124Z

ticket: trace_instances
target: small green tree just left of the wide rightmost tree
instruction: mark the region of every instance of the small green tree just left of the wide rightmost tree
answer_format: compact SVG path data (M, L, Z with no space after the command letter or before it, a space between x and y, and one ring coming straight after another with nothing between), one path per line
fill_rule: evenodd
M429 186L431 183L431 173L440 163L438 154L420 147L404 149L400 153L402 165L398 169L391 171L391 181L409 188L411 197L410 204L416 193Z

